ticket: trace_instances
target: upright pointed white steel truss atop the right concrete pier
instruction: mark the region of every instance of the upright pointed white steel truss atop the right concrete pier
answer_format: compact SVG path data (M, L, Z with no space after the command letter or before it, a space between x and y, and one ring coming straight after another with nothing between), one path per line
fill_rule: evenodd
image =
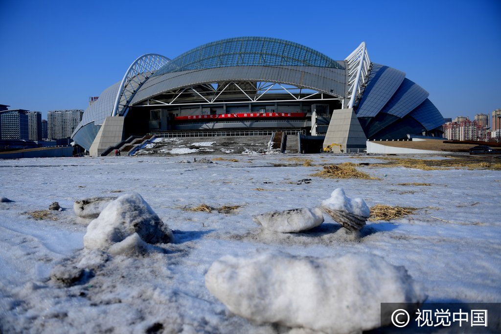
M358 95L362 94L363 88L367 84L368 74L371 67L371 61L365 42L362 42L355 51L353 51L345 62L347 64L346 71L348 73L348 92L350 102L348 108L353 108Z

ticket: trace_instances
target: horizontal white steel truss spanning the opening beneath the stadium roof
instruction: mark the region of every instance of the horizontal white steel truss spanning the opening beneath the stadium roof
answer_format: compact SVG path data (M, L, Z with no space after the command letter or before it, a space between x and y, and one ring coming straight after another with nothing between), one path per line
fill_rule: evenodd
M242 85L243 84L243 85ZM230 91L231 89L231 91ZM226 95L224 95L225 93ZM223 99L227 94L238 94L243 99L238 101L228 101ZM322 92L317 92L312 89L304 89L291 85L284 85L272 82L242 82L230 81L221 84L211 83L197 86L180 88L177 90L164 92L165 99L160 101L156 99L148 99L147 106L172 106L172 105L199 105L201 104L218 104L218 103L252 103L252 102L289 102L289 101L324 101L324 100L341 100L338 97L330 96ZM266 99L267 95L284 94L280 100L277 100L277 95L272 100ZM192 102L193 97L198 96L201 101ZM184 98L184 99L183 99ZM188 100L188 101L186 101ZM139 107L137 105L136 107Z

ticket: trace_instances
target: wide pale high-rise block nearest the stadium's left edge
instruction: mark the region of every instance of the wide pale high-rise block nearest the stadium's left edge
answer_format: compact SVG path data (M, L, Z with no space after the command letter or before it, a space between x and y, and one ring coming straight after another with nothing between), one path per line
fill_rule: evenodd
M82 120L83 110L52 110L47 113L47 138L65 139Z

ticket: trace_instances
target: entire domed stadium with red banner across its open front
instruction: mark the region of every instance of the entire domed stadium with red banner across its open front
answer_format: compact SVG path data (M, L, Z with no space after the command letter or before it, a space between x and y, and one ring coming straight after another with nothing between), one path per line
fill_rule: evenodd
M365 43L335 61L285 40L232 38L172 60L139 57L84 112L72 139L91 155L147 134L282 133L309 151L360 150L367 140L441 137L444 120L428 95L404 72L372 63Z

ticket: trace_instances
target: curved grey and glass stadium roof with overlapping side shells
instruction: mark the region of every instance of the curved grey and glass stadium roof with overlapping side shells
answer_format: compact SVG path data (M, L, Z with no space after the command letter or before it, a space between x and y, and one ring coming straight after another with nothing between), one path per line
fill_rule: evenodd
M126 116L130 108L141 112L199 105L201 111L202 105L209 109L215 105L219 96L223 98L217 103L236 103L228 102L228 94L240 95L240 103L263 103L265 93L271 96L281 89L272 89L276 86L298 106L310 99L310 104L336 100L337 108L353 107L369 139L438 131L443 123L428 92L405 78L404 72L372 63L365 43L345 60L335 61L294 42L240 37L204 44L172 61L157 54L139 57L123 80L103 91L84 112L72 138L88 149L106 117Z

